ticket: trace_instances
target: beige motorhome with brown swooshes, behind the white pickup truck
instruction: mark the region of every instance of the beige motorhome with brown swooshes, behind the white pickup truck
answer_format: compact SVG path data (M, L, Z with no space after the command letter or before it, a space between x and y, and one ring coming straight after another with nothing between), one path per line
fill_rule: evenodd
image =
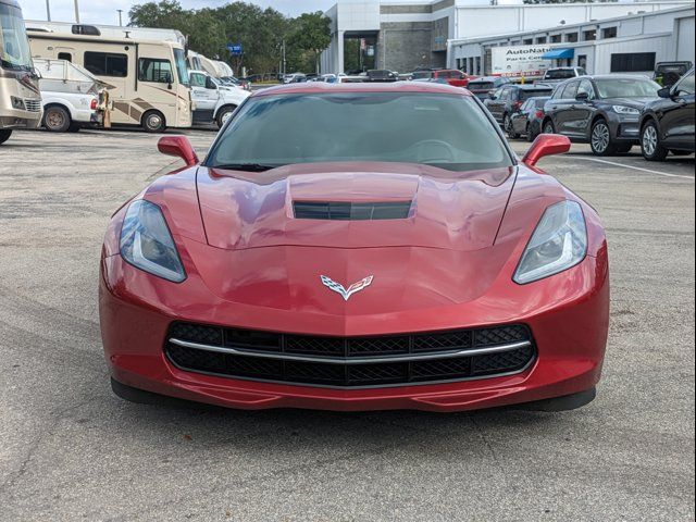
M108 102L112 124L140 125L151 133L191 126L188 67L179 42L36 28L28 35L34 58L76 63L113 86Z

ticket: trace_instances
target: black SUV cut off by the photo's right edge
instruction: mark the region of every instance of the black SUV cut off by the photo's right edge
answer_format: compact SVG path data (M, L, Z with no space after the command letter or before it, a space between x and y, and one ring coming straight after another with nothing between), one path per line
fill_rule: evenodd
M668 152L694 152L694 70L674 86L658 91L659 100L648 103L641 114L641 150L648 161L662 161Z

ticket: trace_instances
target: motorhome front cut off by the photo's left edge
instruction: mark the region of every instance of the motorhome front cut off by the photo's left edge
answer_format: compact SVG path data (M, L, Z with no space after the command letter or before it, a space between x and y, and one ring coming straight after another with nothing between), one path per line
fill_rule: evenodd
M0 144L13 129L40 122L41 95L22 10L15 0L0 0Z

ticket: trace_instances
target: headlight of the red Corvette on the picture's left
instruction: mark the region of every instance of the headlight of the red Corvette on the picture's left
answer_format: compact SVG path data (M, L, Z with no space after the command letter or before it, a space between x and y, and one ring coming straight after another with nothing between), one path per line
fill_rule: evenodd
M121 256L134 266L158 277L181 283L184 265L160 208L142 199L128 207L121 228Z

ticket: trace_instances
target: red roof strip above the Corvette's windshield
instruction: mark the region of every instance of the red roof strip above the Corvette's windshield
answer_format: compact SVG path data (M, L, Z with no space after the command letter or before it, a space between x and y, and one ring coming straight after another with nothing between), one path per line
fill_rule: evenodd
M279 85L256 91L253 97L274 95L320 95L327 92L430 92L442 95L472 96L461 87L452 87L446 84L424 82L393 82L387 84L295 84Z

